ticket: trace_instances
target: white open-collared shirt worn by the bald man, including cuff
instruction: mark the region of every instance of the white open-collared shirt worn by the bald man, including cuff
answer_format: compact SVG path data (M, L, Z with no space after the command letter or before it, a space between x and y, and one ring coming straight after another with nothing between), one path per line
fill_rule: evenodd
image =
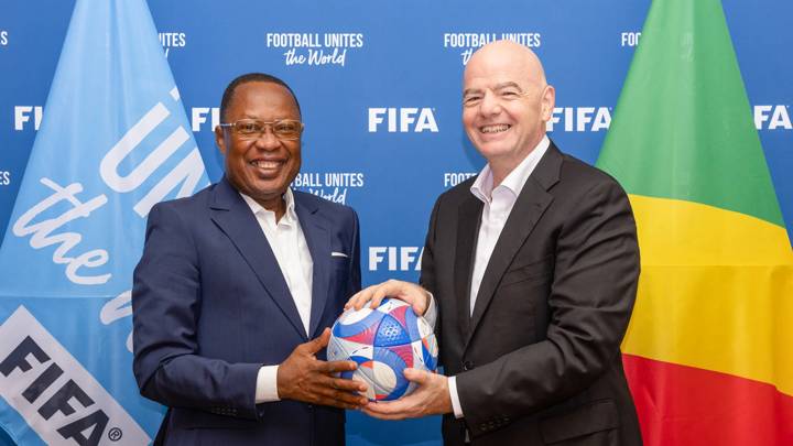
M507 224L507 218L509 218L512 207L518 200L518 196L523 189L526 180L529 180L531 173L534 172L534 167L536 167L550 144L551 141L547 137L543 137L534 150L496 187L493 187L490 164L482 168L474 182L474 185L471 185L471 194L479 198L485 204L485 207L482 208L481 224L479 226L479 236L477 237L476 244L476 257L474 259L469 315L474 314L474 305L476 304L477 294L479 294L479 285L481 285L482 276L490 262L490 255L492 255L496 242ZM448 385L455 417L461 418L464 416L463 407L459 403L457 380L455 377L449 377Z

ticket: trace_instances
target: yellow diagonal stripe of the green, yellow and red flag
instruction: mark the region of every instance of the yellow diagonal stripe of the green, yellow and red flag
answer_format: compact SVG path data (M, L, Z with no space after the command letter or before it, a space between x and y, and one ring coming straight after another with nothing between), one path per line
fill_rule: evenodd
M793 250L785 229L692 202L630 199L642 271L622 351L793 395Z

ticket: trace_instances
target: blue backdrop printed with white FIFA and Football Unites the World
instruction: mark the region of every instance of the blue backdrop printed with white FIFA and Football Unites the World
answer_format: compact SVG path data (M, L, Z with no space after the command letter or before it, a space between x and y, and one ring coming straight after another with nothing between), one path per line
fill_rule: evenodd
M723 4L750 112L785 224L793 228L793 3ZM417 278L435 197L484 164L460 124L460 79L471 51L502 36L532 46L557 91L551 138L591 163L649 6L650 0L149 1L211 181L222 174L211 129L228 81L267 72L293 87L306 123L304 164L293 186L358 210L365 285ZM0 231L10 219L73 7L61 0L0 3ZM437 425L437 418L382 423L350 413L349 444L435 445Z

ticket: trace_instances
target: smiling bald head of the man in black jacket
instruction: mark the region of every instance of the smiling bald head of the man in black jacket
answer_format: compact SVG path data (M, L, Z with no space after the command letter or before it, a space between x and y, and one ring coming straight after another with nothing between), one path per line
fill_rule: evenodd
M479 48L463 76L463 126L498 185L545 135L555 101L540 58L497 41Z

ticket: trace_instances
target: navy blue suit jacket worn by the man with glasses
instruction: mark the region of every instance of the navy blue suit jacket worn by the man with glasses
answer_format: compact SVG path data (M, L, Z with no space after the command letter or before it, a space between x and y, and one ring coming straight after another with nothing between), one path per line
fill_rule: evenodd
M358 218L313 195L294 200L314 262L315 337L360 290ZM170 407L165 444L344 444L341 410L254 404L259 368L308 337L267 238L226 178L152 208L132 309L134 374L144 396Z

